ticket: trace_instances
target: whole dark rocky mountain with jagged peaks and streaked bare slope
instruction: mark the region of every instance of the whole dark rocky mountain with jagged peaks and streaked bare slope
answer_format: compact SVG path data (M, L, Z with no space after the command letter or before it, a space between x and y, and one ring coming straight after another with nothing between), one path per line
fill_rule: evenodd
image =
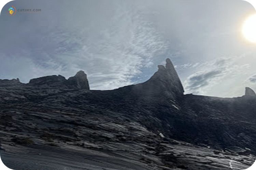
M90 90L83 71L0 80L0 108L11 169L230 170L255 161L255 92L184 95L170 59L148 81L114 90Z

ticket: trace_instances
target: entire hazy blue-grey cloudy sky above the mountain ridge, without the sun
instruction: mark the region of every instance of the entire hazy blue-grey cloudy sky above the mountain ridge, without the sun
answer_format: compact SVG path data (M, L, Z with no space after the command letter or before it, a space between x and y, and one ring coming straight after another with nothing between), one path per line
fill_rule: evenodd
M41 9L16 12L16 9ZM256 44L241 32L255 14L242 0L17 0L0 15L0 79L83 70L90 88L148 80L170 58L186 94L256 90Z

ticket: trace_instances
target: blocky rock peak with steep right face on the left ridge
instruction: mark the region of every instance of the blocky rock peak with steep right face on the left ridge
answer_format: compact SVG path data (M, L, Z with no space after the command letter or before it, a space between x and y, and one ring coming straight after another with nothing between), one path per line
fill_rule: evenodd
M69 84L79 88L79 89L86 89L89 90L89 83L87 79L87 75L84 73L84 71L79 71L75 74L75 76L70 77L68 79Z

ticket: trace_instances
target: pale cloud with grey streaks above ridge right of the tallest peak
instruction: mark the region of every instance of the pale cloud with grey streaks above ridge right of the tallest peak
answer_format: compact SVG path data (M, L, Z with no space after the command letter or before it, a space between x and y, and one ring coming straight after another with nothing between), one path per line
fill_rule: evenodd
M185 93L218 97L242 96L245 87L256 83L256 75L250 76L254 72L253 63L255 60L251 53L223 56L200 63L189 69L189 72L194 73L188 74L183 82Z

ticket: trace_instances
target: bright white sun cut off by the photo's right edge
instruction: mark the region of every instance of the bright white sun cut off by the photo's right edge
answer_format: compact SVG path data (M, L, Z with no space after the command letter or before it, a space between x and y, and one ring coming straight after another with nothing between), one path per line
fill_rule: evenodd
M256 43L256 14L244 21L242 32L247 40Z

